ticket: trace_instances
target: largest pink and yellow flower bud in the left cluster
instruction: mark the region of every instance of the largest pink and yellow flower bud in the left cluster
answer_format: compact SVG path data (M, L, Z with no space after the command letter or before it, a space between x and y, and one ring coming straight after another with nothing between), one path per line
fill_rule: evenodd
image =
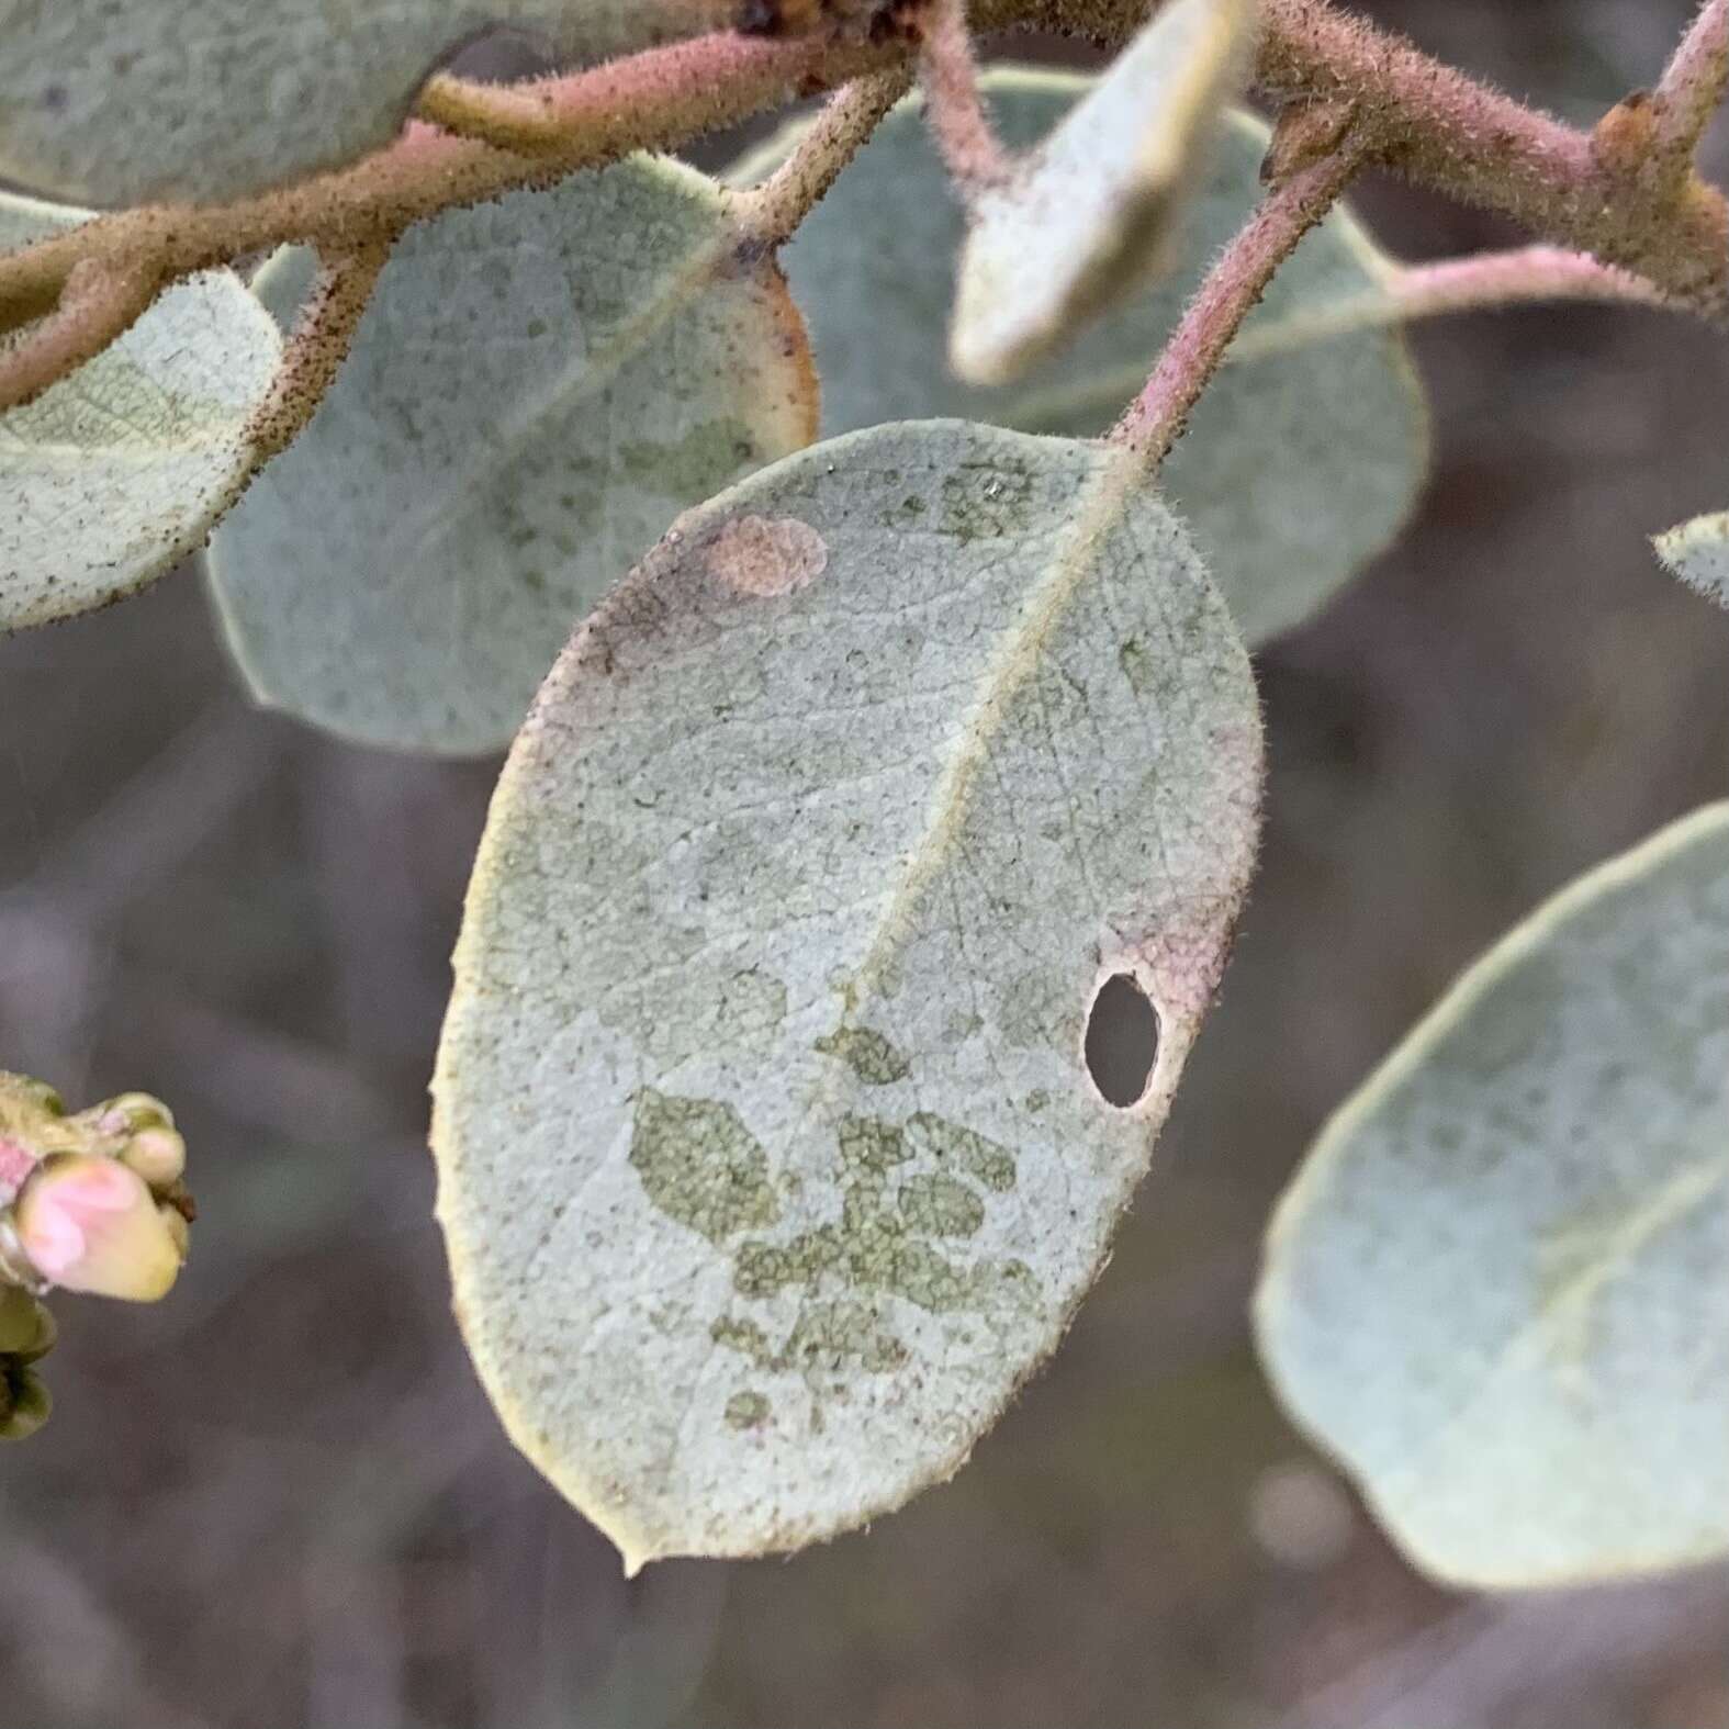
M19 1193L12 1224L36 1273L71 1292L156 1302L180 1273L156 1196L112 1158L45 1158Z

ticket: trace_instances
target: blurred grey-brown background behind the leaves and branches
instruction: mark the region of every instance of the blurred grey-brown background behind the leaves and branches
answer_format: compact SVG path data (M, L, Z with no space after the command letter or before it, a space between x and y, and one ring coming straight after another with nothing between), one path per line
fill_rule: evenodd
M1575 118L1689 9L1366 7ZM1511 239L1356 204L1406 258ZM1433 481L1259 657L1262 871L1110 1269L951 1485L790 1561L626 1584L458 1343L425 1082L496 762L252 712L190 571L0 641L0 1065L166 1096L202 1205L173 1300L57 1305L54 1423L0 1452L0 1729L1729 1729L1729 1570L1440 1591L1248 1343L1330 1107L1532 903L1729 792L1729 619L1646 545L1729 503L1729 344L1558 308L1414 348Z

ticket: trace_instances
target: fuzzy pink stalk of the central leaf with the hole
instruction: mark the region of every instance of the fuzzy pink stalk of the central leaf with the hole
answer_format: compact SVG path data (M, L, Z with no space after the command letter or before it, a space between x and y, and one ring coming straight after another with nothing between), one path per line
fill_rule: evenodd
M1273 273L1350 183L1362 154L1361 140L1347 140L1331 156L1274 187L1207 273L1171 332L1146 389L1110 434L1146 474L1158 469L1183 436L1231 337L1266 294Z

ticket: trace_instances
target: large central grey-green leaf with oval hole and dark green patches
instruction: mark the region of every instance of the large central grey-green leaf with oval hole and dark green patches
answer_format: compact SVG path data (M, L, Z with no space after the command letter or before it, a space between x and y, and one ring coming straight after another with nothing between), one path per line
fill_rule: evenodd
M482 1380L631 1570L958 1470L1146 1169L1259 783L1229 617L1100 446L835 439L591 616L493 804L434 1146ZM1162 1020L1122 1110L1119 973Z

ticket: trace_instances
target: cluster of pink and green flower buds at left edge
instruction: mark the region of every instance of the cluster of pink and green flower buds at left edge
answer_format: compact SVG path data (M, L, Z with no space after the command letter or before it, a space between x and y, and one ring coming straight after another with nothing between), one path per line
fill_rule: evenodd
M54 1345L41 1297L166 1297L187 1259L187 1143L149 1093L67 1113L54 1088L0 1072L0 1440L35 1433Z

